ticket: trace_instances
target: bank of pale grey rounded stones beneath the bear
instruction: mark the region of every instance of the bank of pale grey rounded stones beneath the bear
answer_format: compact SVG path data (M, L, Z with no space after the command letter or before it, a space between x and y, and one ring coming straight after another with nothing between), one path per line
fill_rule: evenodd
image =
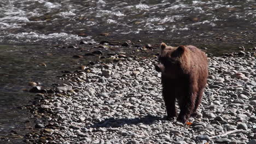
M36 94L26 142L256 143L254 57L208 58L201 114L185 125L165 119L155 62L128 57L66 71L63 86Z

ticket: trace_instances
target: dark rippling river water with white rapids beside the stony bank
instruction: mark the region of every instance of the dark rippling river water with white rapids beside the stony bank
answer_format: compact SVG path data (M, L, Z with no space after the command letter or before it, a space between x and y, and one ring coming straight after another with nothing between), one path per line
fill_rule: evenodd
M95 50L98 41L193 44L218 55L239 46L255 47L255 30L254 0L0 1L0 138L20 140L10 131L24 135L33 126L33 121L26 122L31 119L27 110L17 108L33 99L33 94L22 92L30 88L29 81L42 87L60 83L56 76L61 70L97 59L72 56ZM79 45L81 40L94 45ZM69 45L77 49L68 49Z

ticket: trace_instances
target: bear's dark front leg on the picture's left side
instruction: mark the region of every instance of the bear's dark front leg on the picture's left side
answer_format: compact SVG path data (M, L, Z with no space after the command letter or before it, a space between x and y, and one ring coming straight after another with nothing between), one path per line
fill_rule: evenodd
M163 88L162 95L164 97L166 112L167 112L167 120L172 121L177 117L177 112L175 108L175 95L172 95L174 89L172 88Z

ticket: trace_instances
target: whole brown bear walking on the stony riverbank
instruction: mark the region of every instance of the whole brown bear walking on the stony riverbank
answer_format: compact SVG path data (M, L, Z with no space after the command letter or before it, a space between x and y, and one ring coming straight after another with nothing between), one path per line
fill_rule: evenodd
M162 95L167 119L177 117L175 101L179 104L177 121L185 123L196 116L207 83L208 62L205 52L192 45L178 47L161 44L159 63L155 69L161 72Z

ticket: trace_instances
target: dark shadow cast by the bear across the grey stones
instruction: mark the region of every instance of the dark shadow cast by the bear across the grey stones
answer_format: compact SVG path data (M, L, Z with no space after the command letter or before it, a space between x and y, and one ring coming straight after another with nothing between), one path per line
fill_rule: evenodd
M158 116L151 116L147 115L144 117L137 117L137 118L114 118L110 117L108 119L104 119L104 121L94 123L91 125L91 128L98 128L98 127L112 127L112 128L118 128L122 127L124 124L131 125L131 124L152 124L154 122L158 122L159 120L166 120L166 117L158 117Z

